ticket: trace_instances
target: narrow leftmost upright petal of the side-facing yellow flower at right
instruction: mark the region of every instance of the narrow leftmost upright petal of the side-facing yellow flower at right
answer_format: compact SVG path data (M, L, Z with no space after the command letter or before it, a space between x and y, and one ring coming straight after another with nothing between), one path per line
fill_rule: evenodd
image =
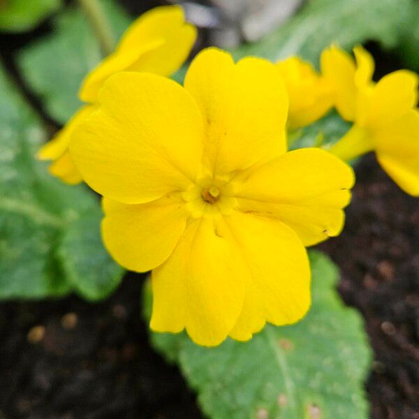
M321 54L321 72L335 89L335 106L346 121L355 119L357 88L355 62L348 52L336 45Z

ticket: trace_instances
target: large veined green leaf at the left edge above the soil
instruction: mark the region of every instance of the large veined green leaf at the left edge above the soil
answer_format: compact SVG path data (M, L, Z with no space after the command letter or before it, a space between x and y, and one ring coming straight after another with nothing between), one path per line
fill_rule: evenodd
M98 200L36 161L45 132L2 68L0 91L0 299L105 297L122 269L101 244Z

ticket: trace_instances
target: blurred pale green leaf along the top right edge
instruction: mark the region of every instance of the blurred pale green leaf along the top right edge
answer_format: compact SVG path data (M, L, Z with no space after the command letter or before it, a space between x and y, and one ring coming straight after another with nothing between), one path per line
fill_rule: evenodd
M235 50L273 61L298 54L316 64L324 47L350 50L367 40L394 47L409 21L413 0L311 0L297 15L261 41Z

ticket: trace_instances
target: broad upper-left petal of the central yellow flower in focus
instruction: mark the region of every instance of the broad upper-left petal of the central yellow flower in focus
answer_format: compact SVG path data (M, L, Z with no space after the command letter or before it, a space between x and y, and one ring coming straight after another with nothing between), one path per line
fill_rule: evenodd
M118 73L100 110L78 127L70 149L92 189L122 203L145 203L196 179L203 121L179 84L147 73Z

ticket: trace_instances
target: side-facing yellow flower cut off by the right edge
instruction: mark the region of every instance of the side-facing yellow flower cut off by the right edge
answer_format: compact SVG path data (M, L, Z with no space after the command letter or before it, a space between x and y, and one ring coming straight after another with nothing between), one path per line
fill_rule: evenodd
M419 196L418 75L401 70L372 82L374 60L355 47L355 61L332 46L321 57L340 115L354 122L330 152L350 160L374 151L378 163L406 193Z

